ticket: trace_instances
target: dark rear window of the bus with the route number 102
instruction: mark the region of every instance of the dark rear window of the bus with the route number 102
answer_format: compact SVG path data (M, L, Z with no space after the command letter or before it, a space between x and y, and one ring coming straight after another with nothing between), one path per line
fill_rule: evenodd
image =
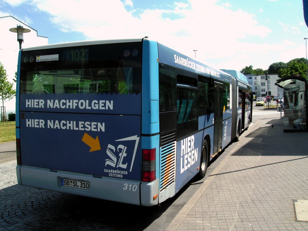
M68 56L69 50L75 51L76 57ZM77 53L79 50L86 51L84 60L80 58L83 57L83 53ZM129 50L135 51L132 53L134 56L128 52ZM136 52L138 50L139 52ZM141 92L141 53L139 43L25 51L22 54L20 92L21 94L138 94ZM59 58L52 61L27 62L31 57L34 57L32 60L39 60L38 57L47 60L48 57L56 55ZM42 59L42 57L47 58Z

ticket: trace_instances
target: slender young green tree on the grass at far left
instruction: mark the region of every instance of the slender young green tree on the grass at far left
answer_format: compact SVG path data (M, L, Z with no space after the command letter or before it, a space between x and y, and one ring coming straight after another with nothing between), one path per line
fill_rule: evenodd
M13 99L16 95L16 90L13 89L13 83L7 80L6 70L4 69L2 63L0 63L0 99L2 101L2 108L4 109L4 102L6 100ZM4 111L3 111L4 112ZM6 115L2 113L3 118L1 120L4 122Z

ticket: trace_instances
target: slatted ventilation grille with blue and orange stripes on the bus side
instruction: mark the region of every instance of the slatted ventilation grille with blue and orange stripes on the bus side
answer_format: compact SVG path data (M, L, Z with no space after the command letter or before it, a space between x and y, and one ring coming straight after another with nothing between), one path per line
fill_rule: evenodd
M176 139L175 132L161 136L160 192L175 182Z

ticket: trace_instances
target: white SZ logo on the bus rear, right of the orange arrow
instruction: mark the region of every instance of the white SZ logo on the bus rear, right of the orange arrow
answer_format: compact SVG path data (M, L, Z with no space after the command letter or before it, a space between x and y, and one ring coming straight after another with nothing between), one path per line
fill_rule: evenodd
M108 144L106 153L109 156L109 159L106 159L105 166L109 165L117 169L127 169L129 167L129 172L132 171L134 165L134 160L136 157L137 147L140 137L131 136L124 139L115 140L115 141L135 141L132 145L125 146L119 144L116 148L115 146ZM125 142L127 144L127 142ZM118 158L117 158L117 156ZM130 162L130 163L129 163ZM125 174L125 173L124 173Z

